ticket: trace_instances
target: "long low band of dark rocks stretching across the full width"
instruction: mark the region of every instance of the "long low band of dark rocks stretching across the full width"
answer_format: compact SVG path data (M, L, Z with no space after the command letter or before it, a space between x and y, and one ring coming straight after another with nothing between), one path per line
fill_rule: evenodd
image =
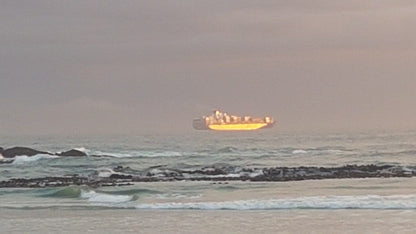
M149 168L150 169L150 168ZM44 177L33 179L10 179L0 181L4 187L56 187L69 185L120 186L133 182L165 182L165 181L297 181L342 178L383 178L383 177L414 177L416 167L395 165L346 165L342 167L269 167L269 168L238 168L209 167L197 170L169 169L164 167L150 170L133 170L129 167L117 166L109 170L109 176L91 174L88 176Z

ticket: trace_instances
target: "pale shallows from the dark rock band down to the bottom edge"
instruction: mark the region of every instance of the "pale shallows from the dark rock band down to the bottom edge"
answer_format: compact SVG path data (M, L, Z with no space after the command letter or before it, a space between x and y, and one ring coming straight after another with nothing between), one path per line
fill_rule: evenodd
M413 233L415 185L416 178L138 183L94 190L101 197L86 188L1 190L0 220L7 233Z

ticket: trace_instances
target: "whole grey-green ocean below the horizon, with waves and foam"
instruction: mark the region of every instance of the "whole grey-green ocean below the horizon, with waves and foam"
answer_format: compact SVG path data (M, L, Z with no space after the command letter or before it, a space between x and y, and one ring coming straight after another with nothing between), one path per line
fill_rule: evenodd
M415 231L416 131L10 136L0 146L88 155L3 158L3 182L124 176L3 186L2 233ZM339 174L344 167L348 173ZM287 171L294 173L276 176Z

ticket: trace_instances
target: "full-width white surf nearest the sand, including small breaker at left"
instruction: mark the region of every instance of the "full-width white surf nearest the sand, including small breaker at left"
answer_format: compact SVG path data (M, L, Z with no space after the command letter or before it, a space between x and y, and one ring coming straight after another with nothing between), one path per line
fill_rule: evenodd
M68 191L68 190L67 190ZM75 189L74 191L78 191ZM64 190L62 190L64 192ZM69 191L70 194L73 191ZM39 209L71 207L85 209L138 209L138 210L416 210L416 195L361 195L361 196L315 196L267 200L167 202L172 199L201 199L200 195L182 194L157 195L152 203L139 203L136 195L114 195L80 189L78 197L65 195L64 198L80 198L88 203L20 203L0 204L1 208Z

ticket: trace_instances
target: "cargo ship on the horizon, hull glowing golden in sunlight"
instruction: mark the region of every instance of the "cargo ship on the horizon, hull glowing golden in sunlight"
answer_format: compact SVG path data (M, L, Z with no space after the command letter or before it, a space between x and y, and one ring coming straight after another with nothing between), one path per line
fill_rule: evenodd
M215 110L209 116L194 119L192 126L197 130L215 131L252 131L262 128L271 128L274 120L271 117L252 118L250 116L235 116Z

